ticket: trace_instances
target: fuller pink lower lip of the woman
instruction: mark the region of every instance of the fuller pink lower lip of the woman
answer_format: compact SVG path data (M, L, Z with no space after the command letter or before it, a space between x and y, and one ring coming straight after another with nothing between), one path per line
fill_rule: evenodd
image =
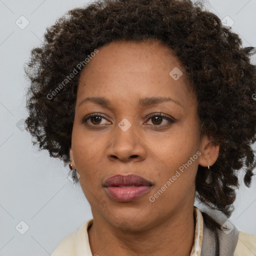
M148 192L151 186L140 185L140 186L126 186L126 187L118 187L118 186L107 186L106 192L107 194L114 200L120 202L128 202L137 199L142 196L146 192Z

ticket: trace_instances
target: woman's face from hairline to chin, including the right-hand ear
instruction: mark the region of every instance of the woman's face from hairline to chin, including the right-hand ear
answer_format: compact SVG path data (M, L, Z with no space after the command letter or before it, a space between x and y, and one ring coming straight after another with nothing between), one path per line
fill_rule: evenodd
M196 97L165 45L111 42L86 64L78 84L70 159L94 219L113 226L125 221L139 229L192 206L198 164L212 165L214 148L199 136ZM110 179L119 187L105 187L117 174L138 175L148 183L127 187L120 183L130 179Z

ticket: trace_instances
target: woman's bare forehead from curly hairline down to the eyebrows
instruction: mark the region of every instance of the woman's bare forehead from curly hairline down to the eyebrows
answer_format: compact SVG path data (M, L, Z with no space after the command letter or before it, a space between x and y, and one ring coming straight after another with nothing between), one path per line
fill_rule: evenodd
M170 76L172 70L180 71L179 79ZM98 48L98 53L86 64L77 98L106 94L114 98L121 94L122 99L127 99L142 94L150 97L158 92L158 96L182 98L184 93L190 94L185 83L180 61L160 41L118 41Z

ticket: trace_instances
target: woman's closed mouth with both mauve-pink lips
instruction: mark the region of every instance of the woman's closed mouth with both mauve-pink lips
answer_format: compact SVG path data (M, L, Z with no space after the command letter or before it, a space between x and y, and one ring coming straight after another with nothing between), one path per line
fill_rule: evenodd
M118 174L106 179L103 187L111 199L128 202L147 193L151 189L152 183L138 175Z

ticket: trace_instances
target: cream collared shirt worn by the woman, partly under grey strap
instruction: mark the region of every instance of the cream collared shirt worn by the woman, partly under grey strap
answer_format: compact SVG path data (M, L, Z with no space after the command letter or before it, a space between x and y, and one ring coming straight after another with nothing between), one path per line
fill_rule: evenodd
M194 243L190 256L201 253L203 218L201 211L194 206L195 232ZM87 230L93 219L83 223L78 230L66 236L55 248L51 256L92 256ZM97 256L94 254L93 256ZM239 231L238 240L233 256L256 256L256 235Z

